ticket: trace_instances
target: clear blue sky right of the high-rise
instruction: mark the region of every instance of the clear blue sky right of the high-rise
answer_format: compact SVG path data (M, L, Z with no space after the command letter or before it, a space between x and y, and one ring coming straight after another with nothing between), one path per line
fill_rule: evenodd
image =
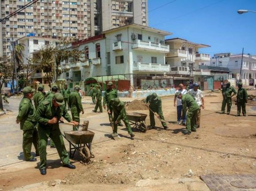
M256 55L256 0L148 0L149 26L172 32L166 38L185 38L207 44L201 52ZM163 7L160 7L167 4ZM156 7L160 7L156 10ZM151 11L152 10L152 11Z

